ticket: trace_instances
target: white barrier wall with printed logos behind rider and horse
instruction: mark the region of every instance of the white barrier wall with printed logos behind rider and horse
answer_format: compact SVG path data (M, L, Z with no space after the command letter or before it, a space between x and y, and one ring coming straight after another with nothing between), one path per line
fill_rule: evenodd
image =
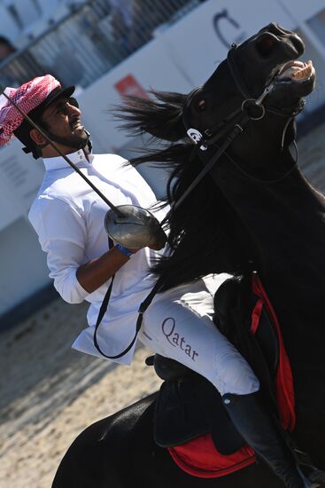
M93 83L78 99L83 121L91 132L95 152L120 152L128 155L133 141L117 129L108 111L120 101L117 83L131 76L132 90L154 88L163 91L189 92L213 73L227 53L227 44L240 43L270 21L286 28L299 28L306 35L308 56L316 60L325 76L324 49L310 34L305 20L325 8L325 2L296 0L210 0L201 4L172 28L159 29L156 38L110 73ZM1 12L0 12L1 13ZM219 16L219 17L218 17ZM215 19L219 18L217 30ZM217 32L218 31L218 32ZM323 46L324 47L324 46ZM313 95L312 107L325 100L324 85ZM0 150L0 314L8 311L28 294L49 282L45 256L27 222L27 211L43 177L41 161L21 152L16 141ZM154 191L161 195L166 172L142 169Z

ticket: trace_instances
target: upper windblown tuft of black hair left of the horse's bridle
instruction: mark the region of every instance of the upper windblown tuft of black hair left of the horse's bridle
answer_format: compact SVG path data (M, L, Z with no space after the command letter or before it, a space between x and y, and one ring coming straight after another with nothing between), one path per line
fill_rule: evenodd
M126 97L115 116L124 121L123 128L134 134L148 132L155 138L177 141L186 136L182 107L186 95L167 91L151 91L156 99Z

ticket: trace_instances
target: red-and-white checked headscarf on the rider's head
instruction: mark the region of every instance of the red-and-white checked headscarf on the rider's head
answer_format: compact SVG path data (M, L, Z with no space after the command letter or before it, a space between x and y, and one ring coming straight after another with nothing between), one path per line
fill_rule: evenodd
M28 114L36 106L48 98L50 92L61 88L60 83L52 75L38 76L19 88L6 88L4 93ZM4 146L13 138L13 131L19 128L24 117L4 95L0 95L0 146Z

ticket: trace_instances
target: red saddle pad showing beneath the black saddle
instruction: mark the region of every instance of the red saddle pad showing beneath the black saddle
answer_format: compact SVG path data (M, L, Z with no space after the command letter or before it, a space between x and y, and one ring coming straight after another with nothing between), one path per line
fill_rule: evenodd
M279 342L279 365L276 373L277 404L284 429L293 430L296 423L295 396L290 361L284 348L281 328L267 293L255 274L252 277L252 292L258 301L251 313L251 333L259 327L263 307L272 319ZM225 456L217 451L210 434L192 439L183 445L169 447L175 463L186 473L201 478L226 476L255 462L255 453L245 445L236 453Z

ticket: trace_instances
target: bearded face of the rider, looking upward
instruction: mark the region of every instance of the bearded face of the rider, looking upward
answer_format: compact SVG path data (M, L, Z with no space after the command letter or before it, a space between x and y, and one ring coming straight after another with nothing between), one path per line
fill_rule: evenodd
M81 124L81 110L72 104L70 98L54 100L43 111L42 122L45 122L46 130L62 138L67 147L72 142L87 141L88 136Z

